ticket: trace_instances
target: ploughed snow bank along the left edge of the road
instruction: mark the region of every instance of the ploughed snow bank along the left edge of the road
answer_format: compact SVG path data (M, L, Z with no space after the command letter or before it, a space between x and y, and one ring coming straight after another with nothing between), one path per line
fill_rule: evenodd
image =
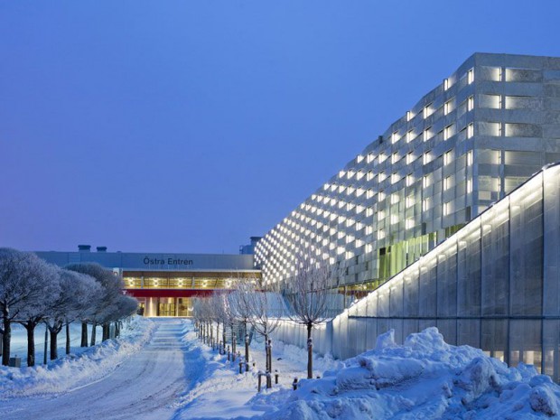
M0 399L68 392L105 377L150 340L155 324L142 317L121 331L120 337L68 355L45 366L0 367Z

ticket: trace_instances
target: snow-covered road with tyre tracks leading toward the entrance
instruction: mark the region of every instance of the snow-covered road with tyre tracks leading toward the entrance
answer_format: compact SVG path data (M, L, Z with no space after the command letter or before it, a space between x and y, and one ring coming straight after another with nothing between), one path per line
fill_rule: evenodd
M157 319L158 329L144 349L97 382L60 396L2 401L8 419L169 419L170 407L185 390L182 322Z

